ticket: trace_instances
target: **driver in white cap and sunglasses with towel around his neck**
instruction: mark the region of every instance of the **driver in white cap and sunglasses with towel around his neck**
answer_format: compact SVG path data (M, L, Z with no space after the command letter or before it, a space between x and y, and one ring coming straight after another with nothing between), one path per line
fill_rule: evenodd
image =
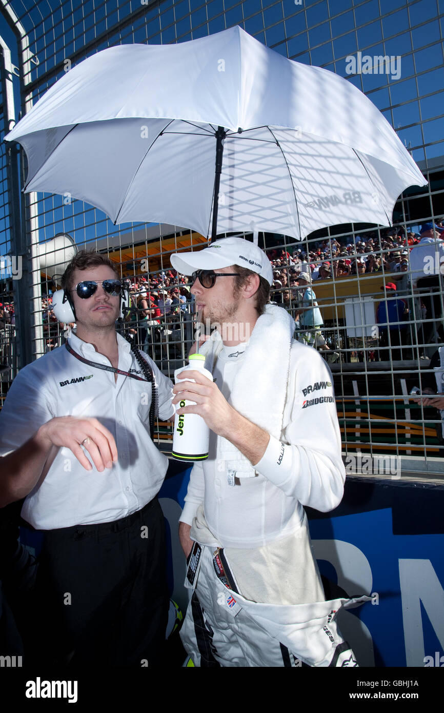
M341 602L325 601L303 508L329 511L343 494L331 374L293 339L286 310L267 304L272 265L257 245L227 237L171 263L191 276L213 330L200 352L214 381L186 371L178 377L194 382L173 389L173 404L195 404L177 409L185 426L199 414L212 431L180 516L194 589L182 642L197 666L356 665L334 621Z

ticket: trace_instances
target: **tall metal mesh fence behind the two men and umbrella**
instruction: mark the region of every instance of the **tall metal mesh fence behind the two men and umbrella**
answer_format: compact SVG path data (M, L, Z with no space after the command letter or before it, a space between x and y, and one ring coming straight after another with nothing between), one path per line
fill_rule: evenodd
M346 76L368 94L396 128L429 185L401 196L393 212L393 229L341 225L302 242L259 235L259 244L262 241L274 264L272 301L293 314L296 339L319 349L329 364L344 452L355 459L351 467L359 462L359 470L366 456L390 456L393 477L401 472L403 476L443 473L440 409L424 399L417 403L410 395L415 387L440 390L435 364L439 366L436 353L444 344L439 256L422 275L425 282L420 279L418 284L412 268L420 226L439 225L444 214L440 6L423 0L381 4L13 0L3 4L2 13L16 27L21 111L64 72L103 48L187 41L234 24L284 56ZM347 58L358 52L399 57L400 76L348 74ZM5 133L3 124L2 139ZM3 142L1 147L0 253L14 255L16 237L10 237L8 218L11 183L6 180ZM24 175L25 165L22 181ZM172 376L192 344L195 315L185 282L170 273L169 258L172 252L202 247L206 237L174 225L115 226L103 212L68 194L27 195L23 215L33 356L41 356L66 337L68 327L54 317L51 294L75 245L106 253L118 274L130 279L132 304L125 332ZM309 273L306 284L299 280L304 272ZM14 302L11 287L11 280L2 280L4 300L0 301ZM163 297L161 290L167 293ZM5 388L17 367L14 333L14 324L1 327L0 317ZM165 424L158 428L158 439L168 440ZM383 468L375 473L372 466L371 474L387 475L386 465Z

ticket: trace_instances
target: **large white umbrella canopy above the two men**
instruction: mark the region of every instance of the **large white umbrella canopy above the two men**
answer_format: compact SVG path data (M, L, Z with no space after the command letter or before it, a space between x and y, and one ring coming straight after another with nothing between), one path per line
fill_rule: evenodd
M26 151L26 191L70 193L115 223L170 222L202 235L215 195L215 232L301 238L344 222L391 224L402 191L427 183L353 84L239 27L98 52L6 140Z

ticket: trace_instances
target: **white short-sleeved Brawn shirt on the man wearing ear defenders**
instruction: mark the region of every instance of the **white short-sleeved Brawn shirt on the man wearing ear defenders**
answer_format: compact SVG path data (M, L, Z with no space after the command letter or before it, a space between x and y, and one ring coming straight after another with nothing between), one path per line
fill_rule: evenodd
M117 339L118 368L143 377L128 342L120 334ZM76 334L69 343L84 359L110 366L93 344ZM175 412L172 383L143 356L158 383L159 416L169 419ZM100 473L93 463L86 471L69 448L54 447L38 484L26 496L24 520L41 530L112 522L150 502L168 463L150 438L150 404L150 383L121 374L115 381L112 371L83 364L64 346L21 369L0 412L0 455L15 451L56 416L98 419L113 434L118 451L118 461Z

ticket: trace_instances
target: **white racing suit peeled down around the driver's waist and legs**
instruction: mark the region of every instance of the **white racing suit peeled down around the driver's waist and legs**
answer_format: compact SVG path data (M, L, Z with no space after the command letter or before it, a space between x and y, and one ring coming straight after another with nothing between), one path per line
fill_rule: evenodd
M302 545L309 548L308 534ZM358 666L336 616L371 597L299 605L254 602L239 592L226 550L215 545L194 545L185 586L195 590L180 636L195 666Z

